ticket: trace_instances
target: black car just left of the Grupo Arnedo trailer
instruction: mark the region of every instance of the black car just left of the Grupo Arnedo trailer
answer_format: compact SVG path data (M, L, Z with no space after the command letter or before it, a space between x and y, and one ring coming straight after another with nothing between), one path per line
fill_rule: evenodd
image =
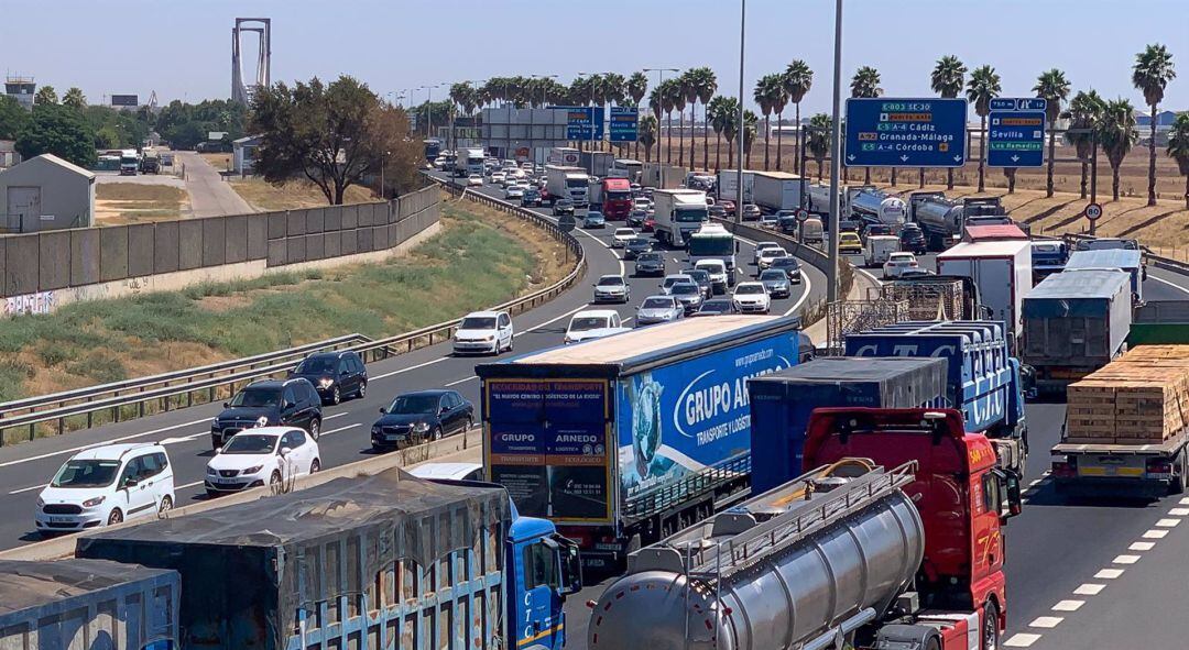
M458 391L433 390L396 396L372 424L372 449L403 448L460 434L474 423L474 406Z

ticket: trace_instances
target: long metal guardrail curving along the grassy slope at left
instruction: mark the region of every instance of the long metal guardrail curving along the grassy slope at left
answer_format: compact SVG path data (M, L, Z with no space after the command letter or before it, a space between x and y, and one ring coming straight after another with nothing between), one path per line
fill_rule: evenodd
M480 194L464 193L436 179L435 182L455 196L461 197L467 194L467 198L480 204L511 213L534 223L549 233L554 240L564 242L574 257L574 269L561 280L498 304L492 309L507 310L515 315L536 308L567 290L585 272L586 258L581 244L570 233L561 232L549 220L511 203ZM109 414L111 422L133 419L191 406L195 404L196 395L205 398L205 400L197 402L199 404L210 403L215 400L220 389L228 387L229 393L234 393L238 385L288 372L309 353L321 349L350 349L359 353L365 362L375 362L447 340L453 335L459 321L460 318L455 318L375 340L363 334L347 334L336 339L197 368L4 403L0 404L0 446L4 444L5 434L18 428L26 428L27 440L33 440L39 425L54 424L54 429L56 429L54 433L58 435L67 433L68 424L71 423L70 418L77 418L80 423L84 422L86 427L90 428L96 422L96 415Z

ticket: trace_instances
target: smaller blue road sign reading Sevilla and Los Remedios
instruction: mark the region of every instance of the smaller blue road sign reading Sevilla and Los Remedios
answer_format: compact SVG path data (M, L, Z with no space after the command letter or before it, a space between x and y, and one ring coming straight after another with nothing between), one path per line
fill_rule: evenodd
M987 115L987 166L1044 165L1045 106L1037 97L995 97Z

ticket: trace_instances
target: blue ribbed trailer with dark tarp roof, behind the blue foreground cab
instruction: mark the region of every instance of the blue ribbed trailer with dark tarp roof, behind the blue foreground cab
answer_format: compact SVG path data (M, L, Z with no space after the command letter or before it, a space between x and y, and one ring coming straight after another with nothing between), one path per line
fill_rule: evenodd
M187 650L490 649L514 516L495 486L389 469L97 532L76 555L178 572Z

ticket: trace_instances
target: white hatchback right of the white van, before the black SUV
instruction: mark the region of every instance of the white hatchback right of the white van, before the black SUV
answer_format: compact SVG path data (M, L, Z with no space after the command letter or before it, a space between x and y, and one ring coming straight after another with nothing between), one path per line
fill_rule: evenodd
M231 436L216 449L203 484L208 497L265 485L279 490L321 468L313 436L295 427L260 427Z

